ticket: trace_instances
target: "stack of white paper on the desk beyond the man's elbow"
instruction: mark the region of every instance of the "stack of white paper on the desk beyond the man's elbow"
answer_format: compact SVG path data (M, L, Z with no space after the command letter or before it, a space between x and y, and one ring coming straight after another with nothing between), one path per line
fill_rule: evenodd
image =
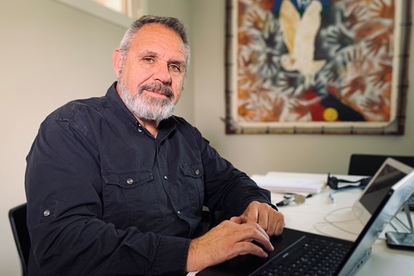
M325 182L307 178L283 178L271 175L253 175L259 187L274 193L319 193Z

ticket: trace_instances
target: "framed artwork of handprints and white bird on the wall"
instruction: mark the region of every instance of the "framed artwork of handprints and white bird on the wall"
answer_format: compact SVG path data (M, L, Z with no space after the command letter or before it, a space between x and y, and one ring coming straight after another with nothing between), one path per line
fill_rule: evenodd
M226 0L227 134L404 134L410 0Z

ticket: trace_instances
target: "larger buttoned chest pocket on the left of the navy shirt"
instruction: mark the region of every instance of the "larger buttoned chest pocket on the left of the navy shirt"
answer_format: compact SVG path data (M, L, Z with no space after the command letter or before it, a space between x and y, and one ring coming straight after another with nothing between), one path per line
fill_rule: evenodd
M120 229L142 225L146 205L157 202L153 190L153 173L144 171L103 171L103 218ZM157 206L153 206L157 210Z

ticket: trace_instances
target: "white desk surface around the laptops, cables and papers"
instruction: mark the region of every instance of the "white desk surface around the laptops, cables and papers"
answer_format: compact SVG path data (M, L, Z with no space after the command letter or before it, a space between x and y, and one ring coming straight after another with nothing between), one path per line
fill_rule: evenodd
M272 176L281 176L281 178L311 178L311 179L321 179L326 180L326 174L305 174L305 173L276 173L272 172ZM344 178L347 180L356 180L360 177L350 177L350 176L338 176L338 178ZM331 224L325 223L324 217L328 213L329 220L346 220L349 213L351 212L350 207L353 202L358 198L362 191L360 189L353 189L349 191L341 191L335 193L334 198L335 202L332 203L329 199L329 192L332 191L329 187L323 189L321 193L318 193L312 198L307 198L305 203L298 205L291 203L287 206L282 206L279 208L285 215L286 227L292 229L298 229L301 231L318 233L322 235L332 235L340 237L347 240L354 240L356 235L351 235L347 232L344 232ZM272 201L277 201L281 195L272 193ZM399 217L404 220L405 214L399 214ZM411 217L414 220L413 212L411 212ZM349 224L354 222L349 222ZM341 225L341 228L352 229L344 223ZM318 230L322 230L322 232ZM385 231L393 231L391 227L387 226ZM404 276L404 275L414 275L414 251L402 251L388 248L384 240L384 233L380 235L380 238L373 244L371 257L368 261L358 270L356 276Z

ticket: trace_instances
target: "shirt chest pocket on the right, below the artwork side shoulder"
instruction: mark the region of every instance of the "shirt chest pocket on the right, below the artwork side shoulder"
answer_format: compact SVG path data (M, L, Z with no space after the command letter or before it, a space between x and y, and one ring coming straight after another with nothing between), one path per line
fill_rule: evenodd
M184 184L188 194L191 210L199 215L204 203L204 169L201 162L181 164L180 169L184 176Z

